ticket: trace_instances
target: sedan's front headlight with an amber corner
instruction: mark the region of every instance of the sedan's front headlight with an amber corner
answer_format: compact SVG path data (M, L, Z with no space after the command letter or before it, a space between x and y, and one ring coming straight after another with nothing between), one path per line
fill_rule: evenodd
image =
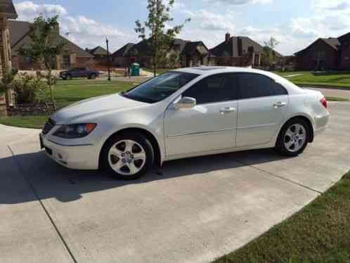
M96 123L62 125L53 133L53 136L65 139L79 139L88 136L95 128Z

